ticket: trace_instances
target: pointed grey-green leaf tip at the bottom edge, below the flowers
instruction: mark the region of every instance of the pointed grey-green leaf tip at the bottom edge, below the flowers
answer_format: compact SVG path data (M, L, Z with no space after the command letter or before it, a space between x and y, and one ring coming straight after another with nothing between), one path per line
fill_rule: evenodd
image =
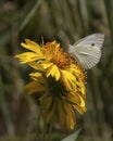
M72 134L70 134L68 137L66 137L65 139L61 140L61 141L75 141L79 134L81 129L78 129L77 131L74 131Z

